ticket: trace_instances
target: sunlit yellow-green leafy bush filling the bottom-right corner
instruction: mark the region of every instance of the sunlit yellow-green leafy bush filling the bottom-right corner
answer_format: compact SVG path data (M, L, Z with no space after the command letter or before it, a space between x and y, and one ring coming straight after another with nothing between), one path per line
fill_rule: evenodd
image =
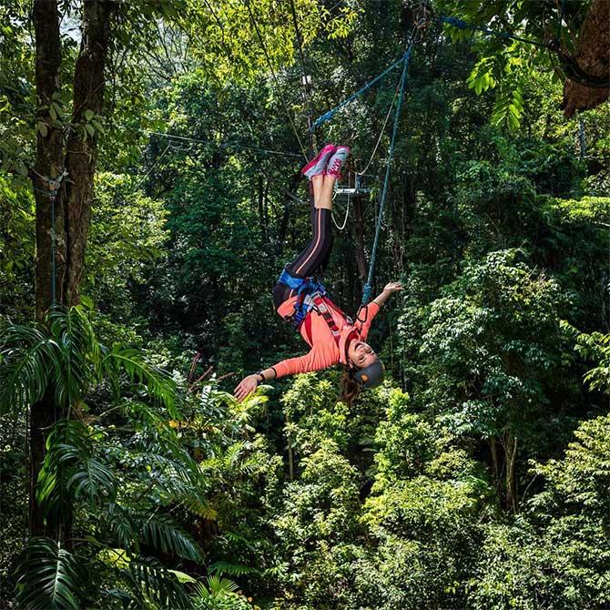
M473 608L576 610L608 604L610 421L584 422L561 460L535 463L544 490L512 526L487 528L470 583Z

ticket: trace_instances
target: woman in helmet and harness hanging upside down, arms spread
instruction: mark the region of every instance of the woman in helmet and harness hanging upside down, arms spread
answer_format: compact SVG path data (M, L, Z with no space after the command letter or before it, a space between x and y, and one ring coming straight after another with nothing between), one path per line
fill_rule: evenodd
M301 170L313 184L313 237L307 248L286 265L273 289L275 309L299 330L311 350L305 356L289 358L244 378L235 388L238 401L243 401L264 381L320 371L340 362L344 368L343 402L351 404L362 388L375 388L383 381L383 363L365 340L381 305L393 292L402 290L402 284L388 284L375 300L361 307L352 321L330 300L324 287L313 280L313 276L321 275L330 258L332 189L349 154L348 147L327 144Z

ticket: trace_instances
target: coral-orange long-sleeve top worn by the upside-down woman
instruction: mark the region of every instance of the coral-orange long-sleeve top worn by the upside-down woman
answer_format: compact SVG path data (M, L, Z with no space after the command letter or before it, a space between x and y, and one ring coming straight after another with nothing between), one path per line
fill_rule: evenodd
M290 316L294 310L294 304L297 297L292 297L285 300L278 308L278 313L282 318ZM327 307L335 321L337 328L340 330L341 336L339 345L332 336L329 325L324 317L316 310L311 310L307 317L310 317L310 323L305 321L300 325L300 336L310 345L311 350L304 356L297 358L288 358L278 362L273 366L278 377L286 375L294 375L300 372L320 371L335 364L347 363L347 344L351 339L366 341L371 321L379 312L379 305L372 302L360 311L358 320L353 324L349 324L341 315L341 310L337 308L330 300L326 302ZM306 320L307 321L307 320ZM310 328L310 336L307 330Z

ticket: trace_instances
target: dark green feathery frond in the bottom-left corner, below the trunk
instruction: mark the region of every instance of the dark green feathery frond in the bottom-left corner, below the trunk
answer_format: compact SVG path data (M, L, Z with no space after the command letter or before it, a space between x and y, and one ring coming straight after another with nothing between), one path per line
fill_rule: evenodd
M55 540L31 538L18 567L17 603L25 608L78 610L82 585L78 558Z

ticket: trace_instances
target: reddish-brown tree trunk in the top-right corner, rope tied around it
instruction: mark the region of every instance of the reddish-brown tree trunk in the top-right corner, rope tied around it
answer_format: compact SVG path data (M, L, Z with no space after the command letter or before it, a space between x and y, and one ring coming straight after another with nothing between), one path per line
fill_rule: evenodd
M578 71L605 81L606 86L587 86L568 78L564 83L564 115L595 108L610 95L610 2L593 0L578 36L578 48L572 58ZM572 62L571 62L572 63Z

